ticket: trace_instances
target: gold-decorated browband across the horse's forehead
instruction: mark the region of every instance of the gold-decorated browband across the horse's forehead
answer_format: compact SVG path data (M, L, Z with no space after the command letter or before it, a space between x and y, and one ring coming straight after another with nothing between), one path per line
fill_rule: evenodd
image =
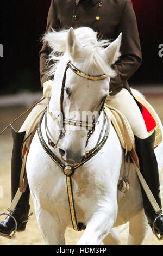
M77 69L72 63L71 61L69 61L67 63L67 66L69 66L69 68L76 73L78 76L81 76L83 78L89 79L89 80L103 80L107 77L109 77L106 74L102 74L102 75L87 75L85 73L83 73L81 70Z

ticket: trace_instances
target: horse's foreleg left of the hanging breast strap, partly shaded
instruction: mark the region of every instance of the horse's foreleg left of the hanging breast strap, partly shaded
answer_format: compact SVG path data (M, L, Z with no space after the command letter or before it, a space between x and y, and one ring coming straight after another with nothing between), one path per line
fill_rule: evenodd
M52 216L48 211L37 207L35 204L35 213L37 222L43 239L47 245L65 245L65 226L62 226L55 216Z

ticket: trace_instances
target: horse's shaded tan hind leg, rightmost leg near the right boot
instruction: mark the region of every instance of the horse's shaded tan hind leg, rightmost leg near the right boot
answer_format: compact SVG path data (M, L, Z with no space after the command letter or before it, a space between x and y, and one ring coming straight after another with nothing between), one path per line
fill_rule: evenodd
M128 245L142 245L148 229L147 219L142 210L129 222Z

